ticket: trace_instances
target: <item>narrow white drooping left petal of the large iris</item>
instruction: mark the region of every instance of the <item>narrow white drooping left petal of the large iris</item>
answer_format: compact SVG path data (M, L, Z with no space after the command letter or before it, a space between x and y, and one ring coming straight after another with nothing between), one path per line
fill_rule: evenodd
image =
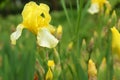
M22 24L19 24L16 28L16 31L10 35L12 45L16 44L16 40L21 36L23 28L24 26Z

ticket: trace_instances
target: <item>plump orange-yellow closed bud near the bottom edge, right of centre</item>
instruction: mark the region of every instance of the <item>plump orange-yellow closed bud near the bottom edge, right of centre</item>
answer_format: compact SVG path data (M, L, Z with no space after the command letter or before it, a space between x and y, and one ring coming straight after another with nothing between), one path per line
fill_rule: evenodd
M97 76L97 69L95 63L91 59L88 63L88 76L89 78L96 78Z

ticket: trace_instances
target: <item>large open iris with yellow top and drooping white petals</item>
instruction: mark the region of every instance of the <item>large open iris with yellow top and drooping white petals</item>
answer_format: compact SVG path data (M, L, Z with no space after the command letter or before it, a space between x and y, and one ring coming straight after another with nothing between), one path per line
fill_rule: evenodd
M49 7L46 4L40 3L37 5L33 1L27 3L22 11L22 17L22 23L17 26L16 31L10 36L12 44L16 44L22 30L26 28L37 35L39 46L53 48L57 45L58 40L51 34L54 28L49 24L51 16Z

